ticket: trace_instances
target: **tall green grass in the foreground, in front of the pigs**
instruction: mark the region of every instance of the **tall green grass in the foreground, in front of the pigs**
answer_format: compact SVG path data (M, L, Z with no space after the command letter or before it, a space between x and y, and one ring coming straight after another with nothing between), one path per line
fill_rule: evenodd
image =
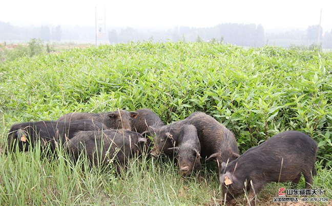
M76 164L68 162L68 155L49 161L40 159L39 150L1 156L1 204L102 204L102 205L197 205L221 203L217 174L204 169L203 178L181 179L178 167L168 159L134 158L129 169L116 175L114 170L89 168L87 159ZM204 167L205 168L205 167ZM210 166L213 168L213 166ZM331 174L317 163L318 175L313 188L324 189L324 197L331 198ZM324 180L324 181L323 181ZM271 201L281 187L289 184L272 183L259 194L259 203ZM304 187L304 179L299 189ZM237 198L238 203L244 197Z

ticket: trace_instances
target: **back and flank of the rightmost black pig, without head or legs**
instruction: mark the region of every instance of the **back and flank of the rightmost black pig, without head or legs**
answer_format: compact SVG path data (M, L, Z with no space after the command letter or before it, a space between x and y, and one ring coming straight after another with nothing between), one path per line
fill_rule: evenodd
M266 140L259 146L248 149L227 171L235 168L239 176L252 180L292 181L301 171L310 172L316 162L317 143L298 131L286 131Z

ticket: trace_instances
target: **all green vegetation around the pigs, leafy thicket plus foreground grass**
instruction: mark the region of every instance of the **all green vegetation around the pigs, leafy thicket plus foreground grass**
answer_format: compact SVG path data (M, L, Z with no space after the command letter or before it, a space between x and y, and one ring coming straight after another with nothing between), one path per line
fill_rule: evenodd
M165 123L203 111L233 131L241 153L281 131L307 133L319 145L313 188L329 199L331 103L332 53L317 51L141 42L0 63L1 145L13 123L73 111L150 108ZM37 150L1 153L0 205L221 204L214 163L203 162L202 182L195 175L182 180L164 158L136 158L120 177L112 167L82 170L86 163L71 164L63 151L52 161ZM258 203L271 204L281 186L289 188L268 184Z

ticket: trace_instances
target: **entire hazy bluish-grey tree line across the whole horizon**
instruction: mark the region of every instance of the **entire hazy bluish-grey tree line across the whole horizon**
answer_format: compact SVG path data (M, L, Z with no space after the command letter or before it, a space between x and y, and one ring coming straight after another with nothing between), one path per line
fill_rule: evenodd
M108 28L104 43L127 43L130 41L218 41L245 47L262 47L276 45L279 47L307 47L319 44L319 47L332 49L332 30L325 32L319 25L309 26L306 30L289 30L279 33L266 33L261 25L254 24L220 24L209 28L177 27L167 30ZM94 27L63 29L60 25L15 27L0 21L0 41L29 41L39 38L43 41L95 41Z

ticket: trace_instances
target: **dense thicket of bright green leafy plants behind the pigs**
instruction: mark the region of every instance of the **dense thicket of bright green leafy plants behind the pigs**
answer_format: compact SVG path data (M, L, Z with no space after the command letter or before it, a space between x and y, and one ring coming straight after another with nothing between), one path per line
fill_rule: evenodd
M300 130L319 143L319 158L332 157L331 53L141 42L19 58L0 69L2 130L72 111L150 108L167 123L203 111L234 132L241 152Z

